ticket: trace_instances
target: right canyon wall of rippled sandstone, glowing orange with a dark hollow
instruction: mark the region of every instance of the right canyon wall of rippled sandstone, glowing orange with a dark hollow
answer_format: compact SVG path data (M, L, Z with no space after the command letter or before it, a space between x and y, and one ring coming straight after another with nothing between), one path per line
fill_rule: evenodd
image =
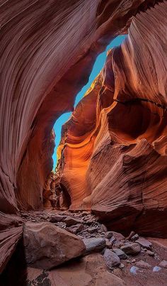
M166 1L132 18L64 125L59 176L71 209L108 228L167 237ZM154 222L154 223L153 223Z

